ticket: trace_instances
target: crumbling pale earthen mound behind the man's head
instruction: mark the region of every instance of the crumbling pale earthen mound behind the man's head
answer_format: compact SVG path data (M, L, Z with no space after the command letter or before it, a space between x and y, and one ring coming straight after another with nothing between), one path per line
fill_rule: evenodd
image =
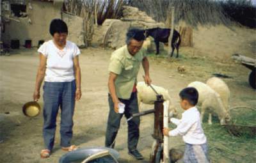
M118 49L125 45L125 34L130 27L138 29L148 29L153 27L164 27L163 23L157 23L145 12L138 8L124 6L121 19L106 19L101 27L95 29L93 34L93 44L105 45L113 49ZM154 46L154 42L152 43Z

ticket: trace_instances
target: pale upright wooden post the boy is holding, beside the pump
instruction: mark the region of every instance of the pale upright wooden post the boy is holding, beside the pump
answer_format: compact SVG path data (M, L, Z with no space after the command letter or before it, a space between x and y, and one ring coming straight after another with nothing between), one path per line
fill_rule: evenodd
M164 101L164 127L168 127L168 119L169 119L169 111L168 111L168 107L169 107L169 101L166 100ZM169 137L168 136L164 136L164 152L163 152L163 159L164 159L164 163L168 163L170 158L169 158Z

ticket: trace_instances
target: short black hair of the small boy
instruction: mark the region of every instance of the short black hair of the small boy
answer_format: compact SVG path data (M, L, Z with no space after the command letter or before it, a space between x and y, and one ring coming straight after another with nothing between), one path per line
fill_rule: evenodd
M195 106L198 102L198 91L193 87L182 89L179 95L182 100L188 100L190 105Z

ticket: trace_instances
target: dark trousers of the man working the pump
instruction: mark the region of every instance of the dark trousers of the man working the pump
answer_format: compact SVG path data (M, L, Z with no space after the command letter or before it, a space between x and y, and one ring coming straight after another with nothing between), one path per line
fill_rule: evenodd
M114 111L114 104L111 98L111 95L108 95L108 102L109 102L109 114L108 114L108 126L106 131L106 147L115 147L116 134L120 127L120 121L122 116L125 115L125 118L130 118L132 114L139 113L138 107L138 99L137 99L137 92L131 94L131 98L129 100L124 100L118 98L120 102L125 104L125 111L123 114L115 113ZM128 149L135 150L137 148L138 140L140 137L140 117L132 118L128 121ZM112 144L113 143L113 144Z

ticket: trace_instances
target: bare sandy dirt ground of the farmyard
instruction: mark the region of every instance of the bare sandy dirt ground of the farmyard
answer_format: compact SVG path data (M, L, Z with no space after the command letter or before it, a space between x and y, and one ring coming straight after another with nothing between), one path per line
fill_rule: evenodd
M178 59L150 56L150 76L152 84L168 89L175 107L182 113L179 105L179 91L190 82L206 82L211 74L223 74L232 78L223 79L230 88L230 106L245 105L255 107L256 92L248 84L250 70L235 63L234 53L255 58L256 33L253 29L224 26L199 27L193 33L193 47L180 47ZM42 137L42 111L35 118L22 113L22 105L33 100L33 90L39 58L37 48L11 50L10 56L0 56L0 162L58 162L67 153L61 150L59 126L51 157L40 158L44 148ZM108 65L113 49L89 47L81 49L79 63L82 74L82 98L76 103L74 114L74 137L72 144L80 148L104 146L106 122L108 119ZM177 67L184 65L184 74ZM143 80L143 69L138 81ZM41 94L43 91L41 91ZM43 106L42 97L39 100ZM141 104L140 111L152 109L152 105ZM136 160L127 154L127 125L116 138L116 150L120 153L118 162L147 162L153 138L153 118L148 114L141 117L140 141L138 150L145 157ZM123 121L125 118L123 118ZM60 123L58 116L57 124ZM206 123L206 121L204 121ZM218 121L214 123L219 123ZM181 137L170 138L170 148L184 144ZM214 155L209 153L210 159ZM255 155L254 155L255 158ZM255 161L255 160L254 160ZM254 162L252 160L252 162ZM230 162L220 159L220 162Z

